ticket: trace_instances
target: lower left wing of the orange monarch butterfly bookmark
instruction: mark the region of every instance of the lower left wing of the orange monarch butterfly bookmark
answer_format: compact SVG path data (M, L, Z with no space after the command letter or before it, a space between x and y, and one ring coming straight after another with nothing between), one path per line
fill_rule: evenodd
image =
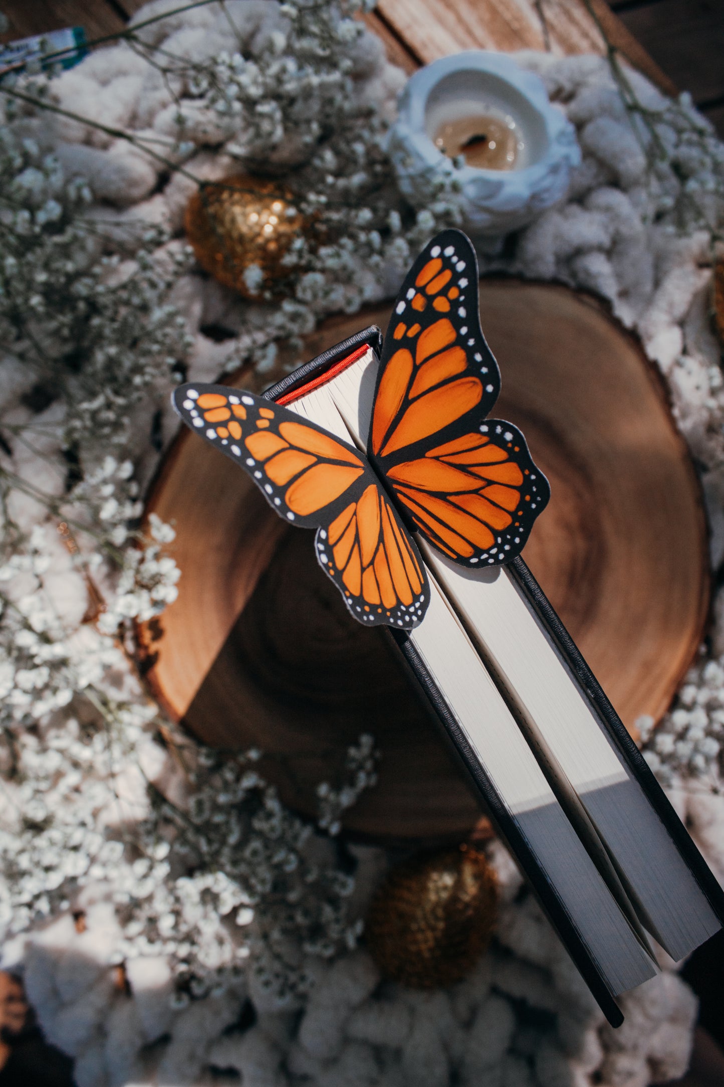
M319 565L360 623L410 629L420 622L430 602L422 560L376 482L319 528L315 545Z

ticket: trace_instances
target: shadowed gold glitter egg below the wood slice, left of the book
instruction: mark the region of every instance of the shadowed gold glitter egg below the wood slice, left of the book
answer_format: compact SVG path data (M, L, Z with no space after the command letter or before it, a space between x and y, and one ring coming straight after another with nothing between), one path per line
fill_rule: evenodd
M495 872L482 853L462 845L392 870L368 911L367 946L390 980L441 988L472 970L496 914Z

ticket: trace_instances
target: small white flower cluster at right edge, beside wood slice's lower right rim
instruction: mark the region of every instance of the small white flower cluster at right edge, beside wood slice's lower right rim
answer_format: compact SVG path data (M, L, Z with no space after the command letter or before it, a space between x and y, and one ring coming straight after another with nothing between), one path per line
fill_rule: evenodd
M724 739L724 657L702 654L656 729L650 717L639 717L637 725L644 757L663 785L682 774L711 778Z

